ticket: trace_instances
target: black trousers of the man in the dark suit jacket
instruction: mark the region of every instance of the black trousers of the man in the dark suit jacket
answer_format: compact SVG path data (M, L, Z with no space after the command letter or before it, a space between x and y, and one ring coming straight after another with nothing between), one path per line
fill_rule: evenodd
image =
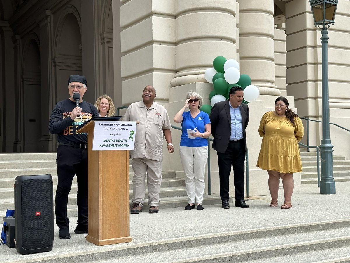
M244 199L244 160L245 146L244 139L237 142L230 141L225 153L218 154L220 197L221 200L229 201L229 178L231 166L235 183L235 199Z

